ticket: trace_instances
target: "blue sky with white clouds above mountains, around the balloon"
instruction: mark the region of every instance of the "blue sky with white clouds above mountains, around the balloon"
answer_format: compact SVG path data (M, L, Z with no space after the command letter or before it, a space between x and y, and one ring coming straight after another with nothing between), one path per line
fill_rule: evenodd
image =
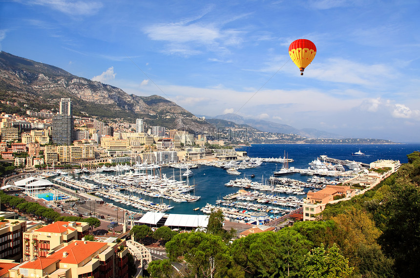
M0 1L0 49L198 115L420 141L420 1ZM296 39L317 48L304 76Z

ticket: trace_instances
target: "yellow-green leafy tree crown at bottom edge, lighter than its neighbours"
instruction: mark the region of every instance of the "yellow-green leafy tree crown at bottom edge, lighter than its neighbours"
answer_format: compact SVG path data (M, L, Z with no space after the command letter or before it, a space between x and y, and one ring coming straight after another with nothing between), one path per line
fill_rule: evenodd
M308 278L345 278L352 274L353 267L349 261L339 253L340 249L333 244L327 251L324 244L315 247L305 256L302 276Z

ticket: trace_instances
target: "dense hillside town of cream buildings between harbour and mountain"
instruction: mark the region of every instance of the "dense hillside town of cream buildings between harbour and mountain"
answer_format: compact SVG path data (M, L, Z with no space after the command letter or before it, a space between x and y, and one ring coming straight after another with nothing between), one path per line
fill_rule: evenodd
M98 163L170 163L196 159L236 159L224 140L208 140L184 130L135 123L102 122L72 115L70 99L61 99L60 111L27 111L27 117L2 113L0 150L24 168L46 165L97 165ZM218 145L219 149L206 148ZM19 154L25 153L26 157Z

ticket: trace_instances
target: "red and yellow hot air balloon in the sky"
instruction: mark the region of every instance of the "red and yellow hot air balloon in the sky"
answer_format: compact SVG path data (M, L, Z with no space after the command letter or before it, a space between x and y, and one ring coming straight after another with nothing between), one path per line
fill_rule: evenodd
M314 60L316 46L310 40L299 39L292 42L289 46L289 55L294 64L300 69L303 75L305 68Z

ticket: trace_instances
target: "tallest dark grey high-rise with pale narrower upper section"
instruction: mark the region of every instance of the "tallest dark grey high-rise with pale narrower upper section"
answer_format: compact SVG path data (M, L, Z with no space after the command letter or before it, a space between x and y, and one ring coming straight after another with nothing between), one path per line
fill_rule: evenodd
M60 112L52 120L52 139L57 145L73 142L73 109L70 99L60 100Z

